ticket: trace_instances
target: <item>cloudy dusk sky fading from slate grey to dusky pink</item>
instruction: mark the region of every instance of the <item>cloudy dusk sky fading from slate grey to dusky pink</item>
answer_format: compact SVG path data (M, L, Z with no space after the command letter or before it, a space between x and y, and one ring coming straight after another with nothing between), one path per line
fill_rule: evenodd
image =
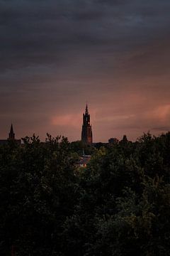
M169 0L0 0L0 139L170 130Z

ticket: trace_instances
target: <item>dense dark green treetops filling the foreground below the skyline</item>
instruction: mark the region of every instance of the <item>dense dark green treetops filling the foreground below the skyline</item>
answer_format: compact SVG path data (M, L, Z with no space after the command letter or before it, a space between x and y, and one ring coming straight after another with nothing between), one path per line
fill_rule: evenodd
M0 255L170 255L170 133L100 149L79 142L0 146Z

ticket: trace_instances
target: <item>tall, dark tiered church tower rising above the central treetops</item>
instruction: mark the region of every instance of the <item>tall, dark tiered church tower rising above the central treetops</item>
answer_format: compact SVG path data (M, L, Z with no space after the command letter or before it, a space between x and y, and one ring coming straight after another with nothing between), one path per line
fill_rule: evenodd
M86 104L86 111L83 114L83 125L82 125L82 132L81 132L81 142L84 144L91 145L92 140L92 130L91 130L91 123L90 123L90 114L88 111L88 106Z

